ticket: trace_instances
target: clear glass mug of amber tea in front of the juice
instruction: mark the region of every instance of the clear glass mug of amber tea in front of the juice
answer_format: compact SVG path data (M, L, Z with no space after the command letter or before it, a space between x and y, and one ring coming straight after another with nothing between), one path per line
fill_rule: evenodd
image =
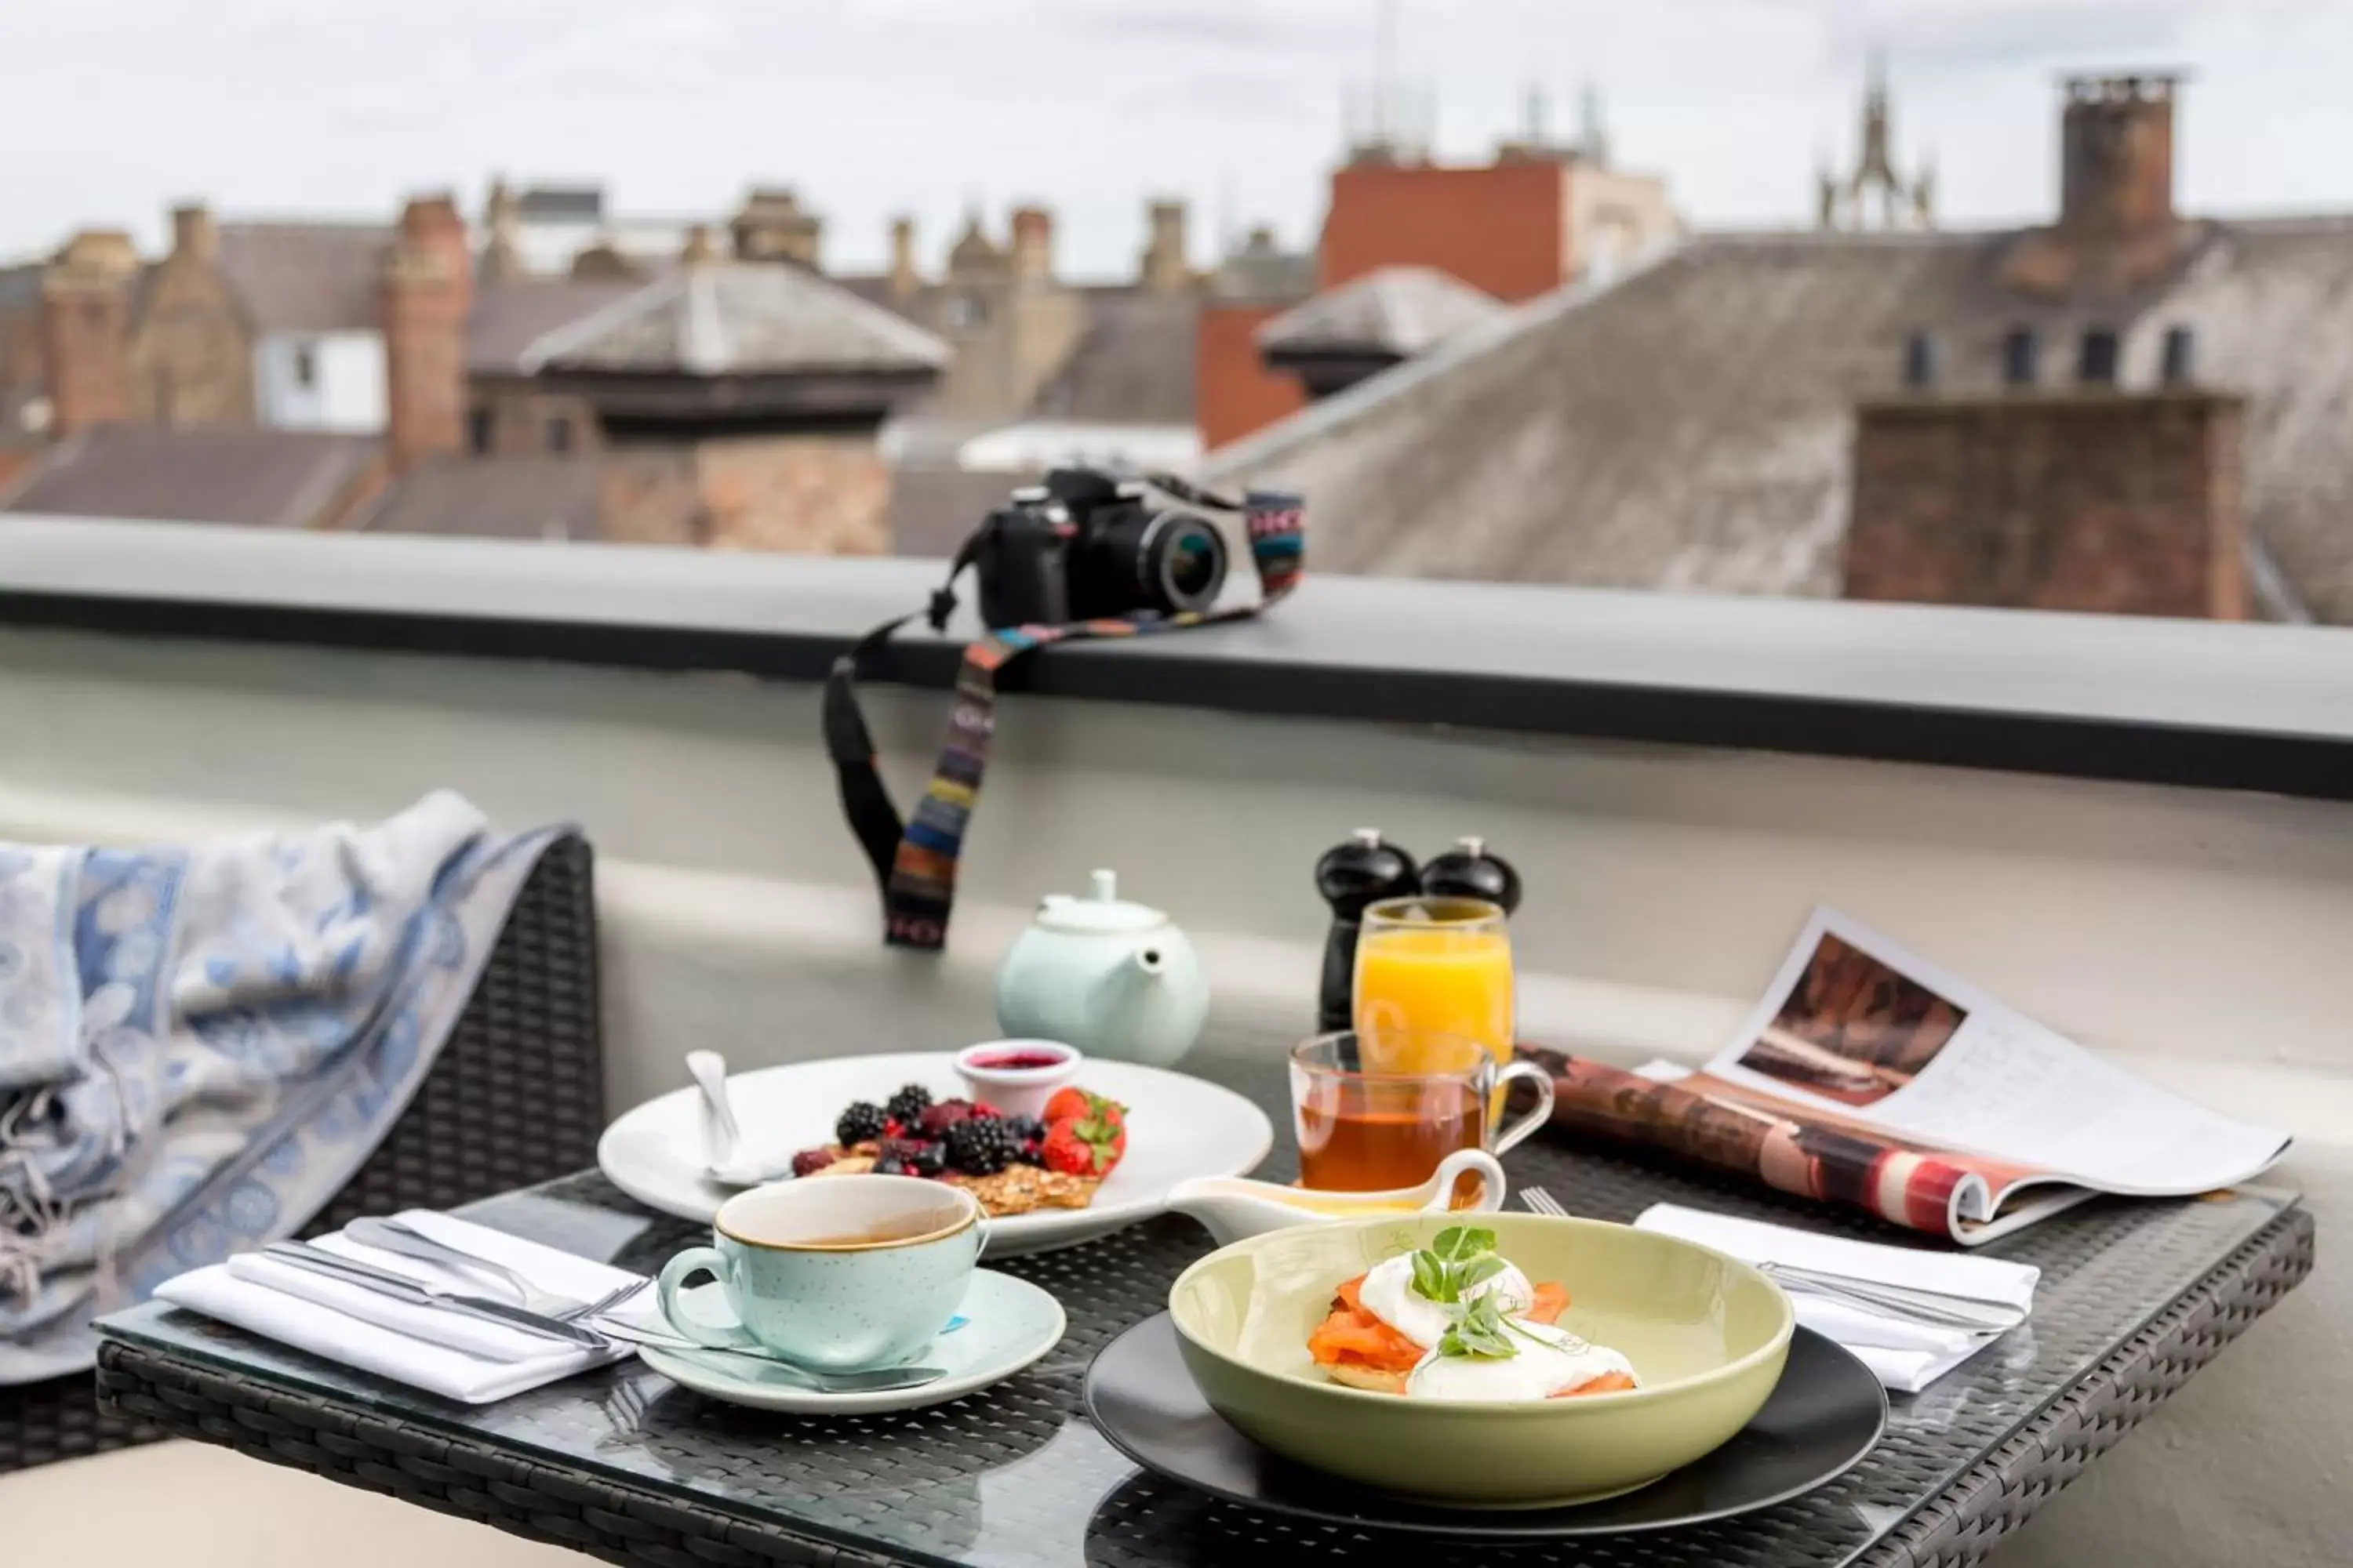
M1292 1131L1299 1180L1325 1192L1419 1187L1454 1150L1501 1154L1553 1117L1553 1079L1537 1063L1497 1063L1482 1041L1461 1034L1386 1032L1367 1051L1355 1030L1292 1046ZM1393 1072L1391 1060L1412 1060ZM1513 1081L1537 1088L1537 1103L1508 1124L1501 1107Z

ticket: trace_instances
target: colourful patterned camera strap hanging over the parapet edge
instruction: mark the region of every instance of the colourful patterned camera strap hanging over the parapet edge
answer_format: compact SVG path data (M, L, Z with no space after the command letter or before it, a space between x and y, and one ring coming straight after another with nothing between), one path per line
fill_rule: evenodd
M1242 512L1249 559L1259 574L1259 602L1176 616L1134 614L1071 625L1009 625L967 644L962 668L955 675L948 741L913 820L901 820L882 785L875 743L866 729L866 715L859 710L854 682L868 656L908 621L922 618L932 630L948 628L948 616L955 614L955 576L969 564L969 552L958 555L948 567L948 583L932 595L929 607L885 621L859 637L849 654L833 661L833 670L826 675L826 752L840 778L842 813L882 886L882 940L892 947L936 952L948 943L955 863L965 849L972 809L981 797L981 773L988 769L988 738L998 726L998 679L1012 661L1056 642L1151 637L1193 625L1247 621L1297 588L1306 548L1306 505L1299 496L1249 491L1235 505L1174 477L1153 475L1151 484L1193 505Z

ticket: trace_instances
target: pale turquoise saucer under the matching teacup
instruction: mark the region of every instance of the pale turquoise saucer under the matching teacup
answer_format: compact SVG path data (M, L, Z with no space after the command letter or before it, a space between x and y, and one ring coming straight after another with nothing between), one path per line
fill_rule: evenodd
M687 1298L718 1286L694 1286ZM725 1319L718 1302L687 1307L706 1319ZM873 1415L878 1410L918 1410L946 1403L986 1389L991 1382L1012 1378L1024 1366L1061 1345L1061 1302L1012 1274L974 1269L972 1286L958 1312L967 1319L955 1333L932 1340L929 1349L915 1359L925 1366L946 1368L939 1382L915 1389L887 1389L882 1394L819 1394L793 1382L781 1371L767 1371L744 1356L696 1356L692 1349L638 1347L638 1356L671 1382L696 1394L725 1399L755 1410L784 1410L788 1415Z

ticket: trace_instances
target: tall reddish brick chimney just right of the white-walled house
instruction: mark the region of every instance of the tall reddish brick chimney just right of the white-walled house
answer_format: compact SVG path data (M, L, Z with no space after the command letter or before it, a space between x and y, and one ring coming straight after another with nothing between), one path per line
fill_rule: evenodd
M384 263L384 449L393 473L466 451L466 219L447 195L400 212Z

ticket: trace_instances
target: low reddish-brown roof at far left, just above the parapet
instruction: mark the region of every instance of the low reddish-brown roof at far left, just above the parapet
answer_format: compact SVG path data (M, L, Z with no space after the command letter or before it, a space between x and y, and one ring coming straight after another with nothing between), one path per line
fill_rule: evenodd
M0 510L327 527L374 461L365 435L99 425L52 447Z

